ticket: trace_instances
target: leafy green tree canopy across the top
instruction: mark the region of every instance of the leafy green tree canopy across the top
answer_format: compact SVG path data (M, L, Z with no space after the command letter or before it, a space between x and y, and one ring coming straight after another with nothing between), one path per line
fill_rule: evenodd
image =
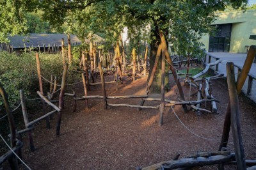
M125 26L129 36L136 37L147 33L150 26L151 31L170 33L176 50L191 52L200 36L211 31L209 25L216 10L224 10L227 5L244 8L246 3L247 0L7 0L0 3L0 42L6 41L7 34L26 33L26 13L42 10L43 19L51 26L60 28L65 24L67 32L81 40L99 32L115 41ZM154 39L156 36L150 35L150 40Z

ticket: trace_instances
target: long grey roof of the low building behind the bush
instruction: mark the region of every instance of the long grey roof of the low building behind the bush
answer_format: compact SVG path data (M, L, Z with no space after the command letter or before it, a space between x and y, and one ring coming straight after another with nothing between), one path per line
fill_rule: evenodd
M103 38L101 38L98 35L93 35L95 38L95 42L104 41ZM64 38L65 44L68 42L68 37L66 34L48 34L48 33L40 33L40 34L30 34L29 36L8 36L10 40L10 45L13 48L24 48L26 47L47 47L48 45L61 45L61 39ZM70 41L73 45L78 45L81 43L81 41L77 38L76 35L70 35ZM89 39L85 40L86 42L90 42Z

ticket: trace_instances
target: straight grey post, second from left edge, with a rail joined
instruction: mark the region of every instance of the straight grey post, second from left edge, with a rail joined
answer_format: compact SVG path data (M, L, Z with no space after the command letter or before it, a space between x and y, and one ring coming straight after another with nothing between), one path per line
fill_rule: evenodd
M24 118L24 123L25 123L25 127L28 128L28 112L27 112L27 107L26 107L26 102L25 102L25 98L24 98L24 91L23 89L20 89L20 102L21 102L21 107L22 107L22 113L23 113L23 118ZM35 151L35 146L34 146L34 141L33 141L33 137L31 134L31 131L27 132L28 134L28 138L29 138L29 146L30 146L30 150L31 151Z

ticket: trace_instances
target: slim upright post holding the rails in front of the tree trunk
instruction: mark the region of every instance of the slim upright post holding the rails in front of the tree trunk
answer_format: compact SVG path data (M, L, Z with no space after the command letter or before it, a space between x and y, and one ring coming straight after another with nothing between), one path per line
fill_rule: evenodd
M161 68L161 104L160 104L160 118L159 126L163 125L163 114L164 114L164 77L165 77L165 56L162 51L162 68Z

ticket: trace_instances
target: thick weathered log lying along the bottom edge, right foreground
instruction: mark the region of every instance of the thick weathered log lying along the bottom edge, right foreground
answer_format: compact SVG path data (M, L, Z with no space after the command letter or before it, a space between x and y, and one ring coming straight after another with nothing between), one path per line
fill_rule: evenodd
M153 169L176 169L180 167L195 167L195 166L208 166L213 164L222 164L235 159L234 153L230 155L216 155L208 158L181 158L179 160L169 160L154 164L152 166L144 167L143 170Z

